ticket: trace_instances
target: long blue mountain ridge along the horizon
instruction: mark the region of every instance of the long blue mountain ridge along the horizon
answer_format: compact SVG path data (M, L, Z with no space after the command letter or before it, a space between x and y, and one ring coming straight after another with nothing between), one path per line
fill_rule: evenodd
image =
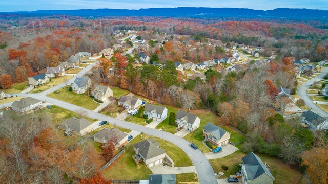
M30 12L0 12L25 16L74 15L74 16L164 16L164 17L239 17L239 18L288 18L327 19L328 10L277 8L274 10L253 10L247 8L148 8L127 9L81 9L81 10L37 10Z

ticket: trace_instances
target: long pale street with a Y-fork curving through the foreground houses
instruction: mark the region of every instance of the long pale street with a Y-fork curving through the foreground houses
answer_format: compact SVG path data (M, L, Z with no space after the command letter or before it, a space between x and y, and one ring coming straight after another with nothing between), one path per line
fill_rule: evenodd
M96 63L90 64L89 66L84 68L81 72L79 72L77 75L75 75L73 78L71 78L67 82L67 84L71 84L75 80L76 77L82 77L83 75L85 75L95 64ZM47 97L48 93L52 93L53 91L66 86L67 84L65 84L65 82L61 83L57 86L54 86L54 87L52 87L48 90L45 90L41 93L38 93L38 94L12 94L12 95L33 97L35 99L49 102L53 105L71 110L76 113L83 112L85 116L92 118L92 119L106 120L106 121L110 122L111 124L116 124L117 126L122 127L122 128L127 128L127 129L135 130L138 132L144 132L146 134L159 137L163 140L167 140L167 141L175 144L179 148L181 148L190 157L190 159L192 160L192 163L196 167L196 172L197 172L197 177L198 177L199 183L204 183L204 184L205 183L206 184L208 184L208 183L214 184L215 183L215 184L217 184L217 181L214 177L213 168L212 168L211 164L209 163L208 159L204 156L204 154L199 149L194 150L190 146L190 142L188 142L187 140L185 140L179 136L176 136L174 134L168 133L166 131L159 131L159 130L156 130L153 128L148 128L148 127L130 123L127 121L118 120L118 119L115 119L112 117L105 116L104 114L100 114L100 113L94 112L92 110L73 105L71 103L67 103L67 102L64 102L61 100ZM9 104L11 104L11 103L0 105L0 107L9 106Z

